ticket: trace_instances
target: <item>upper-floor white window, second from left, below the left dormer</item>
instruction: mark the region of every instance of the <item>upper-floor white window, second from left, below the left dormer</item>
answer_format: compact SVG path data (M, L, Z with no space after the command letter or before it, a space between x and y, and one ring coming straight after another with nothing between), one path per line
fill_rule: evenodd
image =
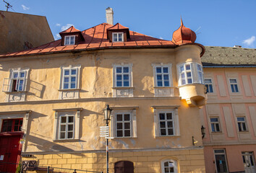
M81 66L61 67L60 89L78 89Z

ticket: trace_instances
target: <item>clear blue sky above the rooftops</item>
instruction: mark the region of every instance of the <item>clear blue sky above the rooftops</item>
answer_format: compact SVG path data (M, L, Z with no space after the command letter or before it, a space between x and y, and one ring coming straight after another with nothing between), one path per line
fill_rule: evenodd
M85 30L106 22L105 9L114 9L114 24L152 37L171 40L180 26L196 31L202 45L242 45L256 48L256 0L5 0L12 5L9 12L46 16L54 37L61 29L74 25ZM0 10L6 10L0 1Z

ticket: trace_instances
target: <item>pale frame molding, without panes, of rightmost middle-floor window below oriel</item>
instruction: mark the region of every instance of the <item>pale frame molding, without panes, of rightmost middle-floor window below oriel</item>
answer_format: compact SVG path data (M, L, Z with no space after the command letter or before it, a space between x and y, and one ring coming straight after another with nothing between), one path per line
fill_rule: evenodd
M154 131L155 137L171 137L171 136L180 136L179 130L179 115L178 107L179 106L151 106L153 108L154 114ZM174 122L174 135L161 136L160 125L159 125L159 113L161 112L171 112L173 115Z

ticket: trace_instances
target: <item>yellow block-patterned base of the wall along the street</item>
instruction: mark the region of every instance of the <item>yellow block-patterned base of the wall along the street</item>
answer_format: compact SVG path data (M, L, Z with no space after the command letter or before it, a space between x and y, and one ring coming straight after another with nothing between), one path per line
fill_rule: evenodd
M94 153L81 152L72 154L33 154L33 158L22 158L22 161L35 160L39 167L106 172L106 153L104 151ZM159 173L162 172L161 161L165 159L175 160L178 172L205 172L203 148L197 148L161 151L156 149L152 151L109 151L109 173L114 173L114 163L116 161L132 161L135 173ZM59 172L57 169L56 171ZM64 171L62 170L62 172ZM71 172L71 170L67 172Z

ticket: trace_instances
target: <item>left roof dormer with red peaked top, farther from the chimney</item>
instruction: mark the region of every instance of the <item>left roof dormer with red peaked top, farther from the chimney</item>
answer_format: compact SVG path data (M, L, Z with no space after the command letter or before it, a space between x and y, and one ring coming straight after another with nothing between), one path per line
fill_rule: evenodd
M82 36L82 32L74 28L74 26L69 27L69 29L59 32L61 35L61 45L77 45L85 38Z

